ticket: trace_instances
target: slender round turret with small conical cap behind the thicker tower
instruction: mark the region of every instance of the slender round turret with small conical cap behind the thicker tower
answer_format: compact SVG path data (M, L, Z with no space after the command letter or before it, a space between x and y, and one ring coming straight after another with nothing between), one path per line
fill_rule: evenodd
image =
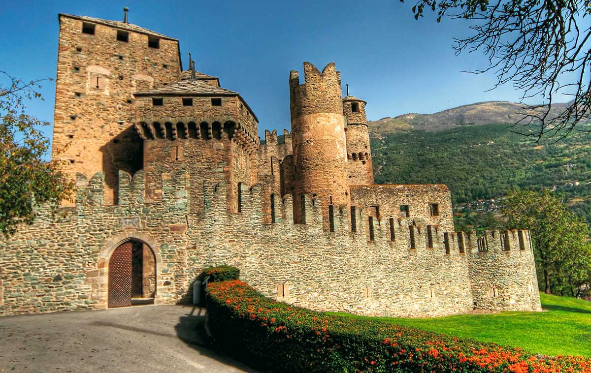
M355 96L346 96L343 99L343 114L347 119L345 135L347 140L349 185L374 184L365 104L365 101Z

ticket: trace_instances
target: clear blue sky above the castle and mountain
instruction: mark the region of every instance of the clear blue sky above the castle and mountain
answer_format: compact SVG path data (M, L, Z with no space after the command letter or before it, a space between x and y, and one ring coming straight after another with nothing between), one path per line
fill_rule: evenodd
M59 12L122 19L180 40L183 66L193 53L196 69L239 91L265 129L289 129L290 70L310 61L322 70L334 61L343 90L368 102L368 119L433 113L462 104L518 101L511 86L486 92L491 74L481 54L454 55L453 37L469 34L466 21L431 15L415 21L413 0L389 1L10 1L0 12L0 70L27 80L55 77ZM55 85L30 113L53 120ZM51 129L47 129L48 135Z

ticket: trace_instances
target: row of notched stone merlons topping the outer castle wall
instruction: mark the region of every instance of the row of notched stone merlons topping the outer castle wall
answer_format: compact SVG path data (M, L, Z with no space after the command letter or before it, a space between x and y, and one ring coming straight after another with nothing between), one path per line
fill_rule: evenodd
M138 171L133 176L128 172L119 171L120 198L118 206L154 206L154 202L145 201L145 174ZM252 186L241 184L240 201L242 208L240 212L230 212L228 208L228 183L205 181L202 185L203 211L198 214L190 213L190 199L187 190L191 184L189 175L184 172L164 173L160 189L163 195L158 204L163 206L175 206L174 214L190 214L194 216L193 224L206 224L207 221L215 221L217 224L235 223L245 224L258 222L263 226L276 226L281 229L290 227L306 227L306 230L313 230L316 234L326 235L349 235L350 237L363 237L370 246L369 250L376 245L396 246L398 250L411 250L415 253L437 251L443 255L457 256L465 254L478 261L486 254L508 254L510 251L531 252L531 237L526 230L507 231L483 231L482 235L476 236L474 232L462 233L444 230L440 225L429 225L421 217L371 217L365 208L356 207L355 215L345 205L326 205L320 197L303 195L301 198L301 213L303 220L296 223L293 220L294 203L291 194L285 195L282 199L275 201L275 223L264 224L262 217L262 206L264 194L262 184ZM105 187L102 172L87 178L86 175L77 174L76 207L99 207L103 206L102 192ZM104 205L112 209L112 205ZM329 228L323 228L323 207L332 211L329 220ZM172 210L169 210L172 211ZM369 223L369 219L372 222ZM352 224L353 221L353 224ZM394 224L391 226L391 224ZM301 228L297 228L301 229ZM413 236L411 238L411 231Z

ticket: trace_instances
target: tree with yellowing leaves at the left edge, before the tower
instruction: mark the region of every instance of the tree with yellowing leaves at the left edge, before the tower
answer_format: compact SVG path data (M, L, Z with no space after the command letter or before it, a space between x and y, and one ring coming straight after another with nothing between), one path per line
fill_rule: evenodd
M24 82L0 71L0 233L14 234L20 223L33 223L35 205L57 211L69 199L73 182L61 164L46 162L49 141L40 127L49 123L25 113L25 101L42 99L41 80Z

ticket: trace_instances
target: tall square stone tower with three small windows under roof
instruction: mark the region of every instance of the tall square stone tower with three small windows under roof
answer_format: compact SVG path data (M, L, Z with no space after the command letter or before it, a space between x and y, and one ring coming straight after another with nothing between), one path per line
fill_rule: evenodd
M134 96L180 80L178 40L125 21L60 14L54 160L105 174L105 204L118 199L118 170L142 168L142 140L133 128Z

